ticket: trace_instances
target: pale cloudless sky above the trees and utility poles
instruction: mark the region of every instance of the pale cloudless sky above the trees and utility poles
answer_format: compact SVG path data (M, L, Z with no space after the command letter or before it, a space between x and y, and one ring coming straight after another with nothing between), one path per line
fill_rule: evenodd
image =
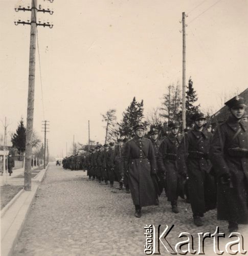
M8 140L21 117L26 123L31 12L14 8L31 0L0 0L0 119ZM136 96L144 114L161 106L171 83L182 85L182 12L186 17L186 80L192 77L201 110L217 111L248 87L247 0L38 0L34 130L43 140L50 121L50 155L61 157L75 142L104 142L101 114L118 121ZM4 127L0 122L0 135Z

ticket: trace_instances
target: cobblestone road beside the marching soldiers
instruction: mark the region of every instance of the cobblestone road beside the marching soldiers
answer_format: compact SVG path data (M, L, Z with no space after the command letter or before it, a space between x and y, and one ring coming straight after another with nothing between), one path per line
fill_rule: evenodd
M155 227L161 224L164 228L166 224L174 224L168 235L172 246L185 240L178 238L181 232L190 232L195 243L197 232L213 233L216 226L227 232L227 224L216 221L214 210L204 217L205 226L197 228L192 225L190 205L179 200L178 208L180 213L173 214L162 196L160 206L143 208L142 217L137 219L130 194L119 191L117 183L111 189L105 184L87 181L86 172L63 170L52 164L13 254L145 255L146 224ZM160 251L165 254L162 247Z

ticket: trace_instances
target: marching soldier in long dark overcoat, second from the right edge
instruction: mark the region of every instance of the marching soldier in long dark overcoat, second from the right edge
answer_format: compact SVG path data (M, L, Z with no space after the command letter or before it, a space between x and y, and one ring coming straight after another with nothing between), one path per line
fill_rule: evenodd
M214 177L210 175L211 162L209 147L212 134L204 129L206 116L195 113L193 130L185 134L177 151L178 172L188 177L190 204L193 212L194 224L202 226L200 217L215 208L212 193L216 190Z

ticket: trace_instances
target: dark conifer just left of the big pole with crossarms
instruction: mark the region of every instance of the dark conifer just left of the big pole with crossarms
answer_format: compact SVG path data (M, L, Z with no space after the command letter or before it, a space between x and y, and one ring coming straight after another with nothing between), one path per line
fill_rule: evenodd
M24 120L21 117L18 127L15 134L11 138L13 147L16 147L17 150L21 153L25 152L26 147L26 128L24 126Z

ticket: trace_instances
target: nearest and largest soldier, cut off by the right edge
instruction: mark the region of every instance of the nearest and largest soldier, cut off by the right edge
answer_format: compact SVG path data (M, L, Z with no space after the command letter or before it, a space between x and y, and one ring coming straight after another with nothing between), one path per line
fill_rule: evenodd
M229 119L217 126L210 158L217 175L217 219L229 222L230 232L248 223L248 125L242 120L242 97L225 103Z

